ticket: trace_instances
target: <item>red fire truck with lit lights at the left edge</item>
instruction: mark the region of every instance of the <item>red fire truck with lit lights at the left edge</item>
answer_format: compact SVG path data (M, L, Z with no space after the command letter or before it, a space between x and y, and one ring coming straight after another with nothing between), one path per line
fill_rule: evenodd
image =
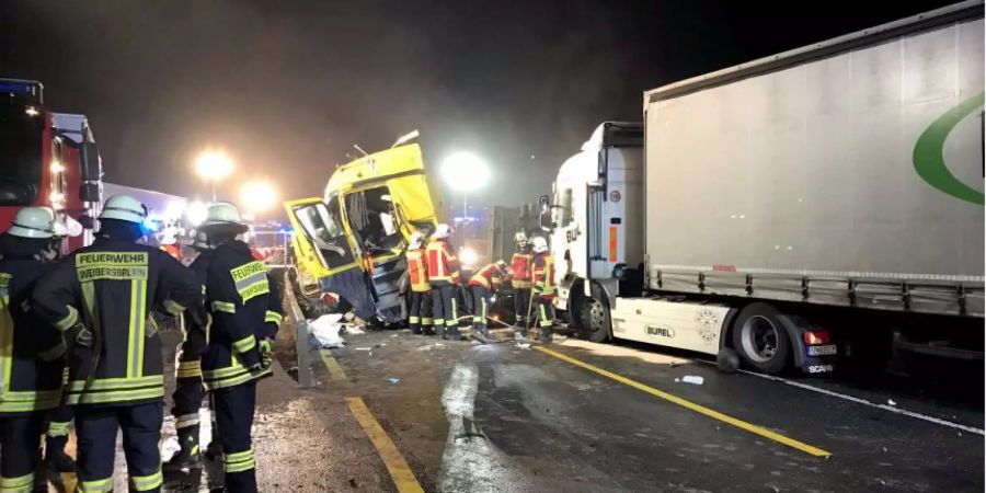
M84 115L45 108L41 82L0 79L0 232L18 209L49 207L73 234L62 249L92 242L102 164Z

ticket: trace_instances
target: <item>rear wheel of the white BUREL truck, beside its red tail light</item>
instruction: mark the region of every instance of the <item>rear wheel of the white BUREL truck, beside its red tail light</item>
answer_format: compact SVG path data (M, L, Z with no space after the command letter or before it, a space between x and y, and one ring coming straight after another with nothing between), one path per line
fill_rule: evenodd
M767 303L753 303L740 311L733 325L733 348L747 365L768 375L777 375L791 363L791 342Z

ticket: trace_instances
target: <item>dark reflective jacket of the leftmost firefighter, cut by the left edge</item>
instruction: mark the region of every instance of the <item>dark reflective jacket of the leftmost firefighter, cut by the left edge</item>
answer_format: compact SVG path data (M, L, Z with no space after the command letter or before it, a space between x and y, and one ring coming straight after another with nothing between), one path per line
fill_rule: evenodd
M65 343L27 299L46 267L34 259L0 261L0 415L50 410L61 400Z

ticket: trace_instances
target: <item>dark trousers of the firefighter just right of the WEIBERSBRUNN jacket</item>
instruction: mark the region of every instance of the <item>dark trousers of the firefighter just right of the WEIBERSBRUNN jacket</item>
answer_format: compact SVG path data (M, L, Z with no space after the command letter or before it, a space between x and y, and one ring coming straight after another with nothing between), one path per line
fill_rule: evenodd
M222 445L226 491L256 492L256 465L250 428L256 406L256 381L213 391L216 426Z

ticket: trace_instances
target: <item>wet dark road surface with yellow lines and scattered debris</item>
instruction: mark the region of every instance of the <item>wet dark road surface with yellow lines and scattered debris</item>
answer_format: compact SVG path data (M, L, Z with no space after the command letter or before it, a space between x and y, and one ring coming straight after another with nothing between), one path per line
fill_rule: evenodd
M436 341L406 330L345 339L347 346L325 351L325 359L312 351L311 389L299 389L284 370L293 341L279 341L282 365L259 385L253 436L261 491L984 488L983 409L975 398L724 375L656 347L575 340L552 344L552 354L538 344ZM330 374L326 360L342 372ZM347 398L362 398L392 450L357 421ZM173 444L163 448L167 458ZM394 479L401 467L410 483ZM126 491L123 471L121 459L117 491ZM220 478L209 463L202 474L165 475L165 491L209 491Z

